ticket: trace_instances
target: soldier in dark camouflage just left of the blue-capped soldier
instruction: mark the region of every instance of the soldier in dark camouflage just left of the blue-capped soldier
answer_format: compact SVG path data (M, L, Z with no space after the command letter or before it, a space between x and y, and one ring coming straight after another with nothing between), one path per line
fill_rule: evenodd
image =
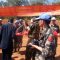
M31 19L31 24L29 25L29 33L28 33L28 42L26 46L26 54L25 54L25 60L35 60L35 49L32 48L29 43L33 41L33 39L38 38L38 33L39 33L39 24L38 22L35 21L35 18ZM34 43L34 41L33 41Z

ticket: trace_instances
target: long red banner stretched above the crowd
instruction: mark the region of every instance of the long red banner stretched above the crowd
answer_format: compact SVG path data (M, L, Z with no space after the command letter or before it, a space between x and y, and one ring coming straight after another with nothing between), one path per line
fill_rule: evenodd
M37 16L41 12L56 10L60 10L60 5L0 7L0 16Z

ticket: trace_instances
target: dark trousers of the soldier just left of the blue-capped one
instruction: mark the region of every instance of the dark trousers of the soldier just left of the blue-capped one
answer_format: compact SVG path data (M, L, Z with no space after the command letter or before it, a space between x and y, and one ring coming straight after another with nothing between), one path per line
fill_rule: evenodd
M26 54L25 54L25 60L35 60L35 49L31 49L30 46L26 47Z

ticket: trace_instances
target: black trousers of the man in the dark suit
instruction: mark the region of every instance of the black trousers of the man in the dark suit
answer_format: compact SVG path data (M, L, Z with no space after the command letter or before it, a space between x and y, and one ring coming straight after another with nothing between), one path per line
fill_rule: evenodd
M2 60L12 60L12 50L13 48L2 49Z

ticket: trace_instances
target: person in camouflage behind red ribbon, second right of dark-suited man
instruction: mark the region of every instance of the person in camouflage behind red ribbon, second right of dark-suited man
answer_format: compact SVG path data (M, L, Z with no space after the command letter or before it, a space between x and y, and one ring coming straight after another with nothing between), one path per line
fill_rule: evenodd
M22 47L22 38L23 38L23 30L24 30L24 25L23 25L23 19L18 20L19 21L19 27L16 29L16 34L20 33L20 35L17 35L17 48L18 48L18 52L20 50L20 48Z

